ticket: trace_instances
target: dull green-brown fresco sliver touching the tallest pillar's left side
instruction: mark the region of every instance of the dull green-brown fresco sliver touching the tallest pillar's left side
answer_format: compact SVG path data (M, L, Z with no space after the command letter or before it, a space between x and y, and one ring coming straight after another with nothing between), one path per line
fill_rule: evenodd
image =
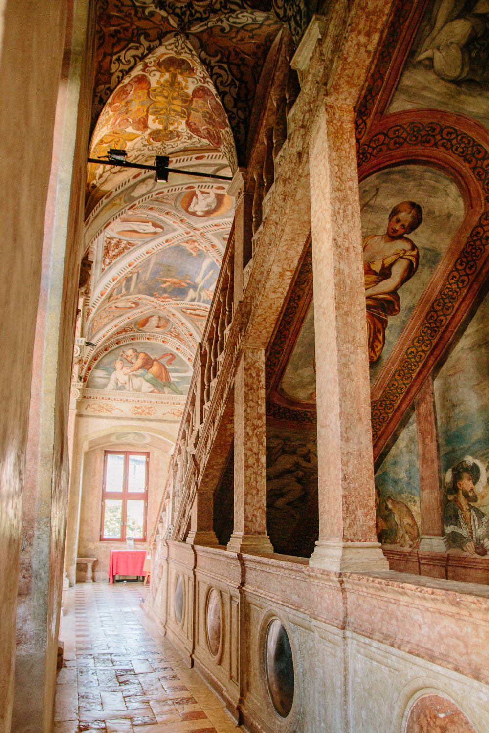
M279 386L284 397L299 402L316 401L314 305L311 302Z

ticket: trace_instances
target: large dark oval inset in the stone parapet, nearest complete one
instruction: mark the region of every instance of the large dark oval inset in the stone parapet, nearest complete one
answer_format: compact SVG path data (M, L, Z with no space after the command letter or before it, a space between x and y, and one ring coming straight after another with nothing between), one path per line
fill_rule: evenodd
M294 662L287 631L279 619L268 626L265 671L273 707L281 718L287 718L294 701Z

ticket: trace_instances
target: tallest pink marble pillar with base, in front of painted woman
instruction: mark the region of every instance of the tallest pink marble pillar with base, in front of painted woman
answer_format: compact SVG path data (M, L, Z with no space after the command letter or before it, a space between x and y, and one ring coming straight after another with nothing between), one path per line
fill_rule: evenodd
M309 150L319 541L310 564L389 570L375 535L370 385L353 106L327 100Z

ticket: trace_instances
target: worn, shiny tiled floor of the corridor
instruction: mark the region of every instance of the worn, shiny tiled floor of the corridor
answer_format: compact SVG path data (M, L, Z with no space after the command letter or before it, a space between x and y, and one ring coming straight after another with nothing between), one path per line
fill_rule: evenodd
M221 701L145 616L141 583L66 591L54 733L236 733Z

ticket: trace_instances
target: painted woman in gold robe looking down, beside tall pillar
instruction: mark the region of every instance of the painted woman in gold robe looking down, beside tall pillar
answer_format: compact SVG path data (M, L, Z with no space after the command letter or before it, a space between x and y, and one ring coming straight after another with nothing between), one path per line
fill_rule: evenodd
M418 248L405 235L411 234L422 221L422 207L412 201L403 201L391 210L386 234L372 235L364 240L370 364L382 353L389 316L400 312L397 290L418 268Z

